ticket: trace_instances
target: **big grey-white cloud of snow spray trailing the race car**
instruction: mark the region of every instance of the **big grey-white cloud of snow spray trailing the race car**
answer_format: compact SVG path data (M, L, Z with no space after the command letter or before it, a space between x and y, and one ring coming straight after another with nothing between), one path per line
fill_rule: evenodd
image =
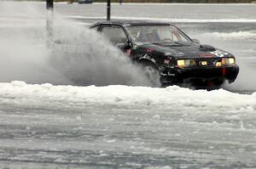
M30 2L0 3L0 82L151 85L141 68L96 31L54 14L49 48L45 8Z

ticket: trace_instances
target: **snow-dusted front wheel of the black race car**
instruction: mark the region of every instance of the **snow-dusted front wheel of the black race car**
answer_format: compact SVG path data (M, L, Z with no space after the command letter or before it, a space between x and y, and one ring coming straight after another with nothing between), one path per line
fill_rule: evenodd
M158 67L150 61L143 61L141 64L143 65L144 75L148 78L150 85L152 87L161 87Z

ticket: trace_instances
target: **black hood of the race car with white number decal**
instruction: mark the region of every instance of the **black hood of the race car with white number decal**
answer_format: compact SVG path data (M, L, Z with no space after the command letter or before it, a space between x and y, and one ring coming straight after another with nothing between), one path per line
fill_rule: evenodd
M141 48L151 52L170 55L176 58L198 58L198 57L226 57L230 53L213 48L209 45L200 45L195 42L154 42L144 43Z

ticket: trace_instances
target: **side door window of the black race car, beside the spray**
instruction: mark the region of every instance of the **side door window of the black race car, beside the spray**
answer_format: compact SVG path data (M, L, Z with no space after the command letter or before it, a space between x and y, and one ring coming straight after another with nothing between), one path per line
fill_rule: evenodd
M116 45L118 43L127 42L125 31L121 26L117 25L103 25L102 34L108 38L108 40Z

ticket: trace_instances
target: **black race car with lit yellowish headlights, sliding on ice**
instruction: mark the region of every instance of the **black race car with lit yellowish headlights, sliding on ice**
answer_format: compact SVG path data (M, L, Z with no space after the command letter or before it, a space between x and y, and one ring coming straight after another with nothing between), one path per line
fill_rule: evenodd
M234 55L190 39L175 25L153 21L102 21L90 26L143 65L151 82L220 87L239 72Z

